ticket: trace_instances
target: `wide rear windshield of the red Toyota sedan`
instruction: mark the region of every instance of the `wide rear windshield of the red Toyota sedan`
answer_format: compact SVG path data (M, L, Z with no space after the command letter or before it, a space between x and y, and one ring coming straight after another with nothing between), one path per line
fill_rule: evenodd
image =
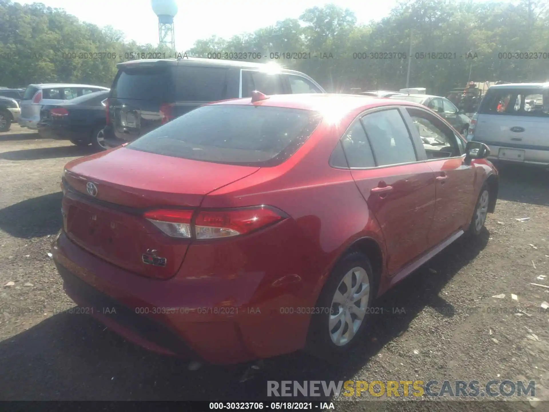
M128 148L204 162L276 166L305 143L321 116L279 107L209 105L155 129Z

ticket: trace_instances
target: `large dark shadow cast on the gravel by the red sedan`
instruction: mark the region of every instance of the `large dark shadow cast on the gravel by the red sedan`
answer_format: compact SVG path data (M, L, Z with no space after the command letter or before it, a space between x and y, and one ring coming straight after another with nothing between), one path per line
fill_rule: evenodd
M460 238L379 299L376 307L404 308L404 313L394 314L388 310L373 315L365 339L350 353L330 363L297 352L266 359L259 370L243 364L203 366L198 371L188 371L186 361L150 353L127 343L89 315L61 312L0 342L0 398L264 400L269 380L345 381L355 376L382 347L406 331L426 305L451 308L439 297L441 288L477 256L489 236L484 230L477 238ZM54 312L61 309L50 308ZM42 316L40 312L33 310L33 316ZM253 372L250 378L241 382L250 371Z

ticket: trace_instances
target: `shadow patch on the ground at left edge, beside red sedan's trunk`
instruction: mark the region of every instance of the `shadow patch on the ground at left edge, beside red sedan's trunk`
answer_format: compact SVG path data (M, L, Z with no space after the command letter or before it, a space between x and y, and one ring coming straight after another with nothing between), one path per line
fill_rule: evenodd
M63 226L63 192L44 194L0 209L0 230L19 238L54 235Z

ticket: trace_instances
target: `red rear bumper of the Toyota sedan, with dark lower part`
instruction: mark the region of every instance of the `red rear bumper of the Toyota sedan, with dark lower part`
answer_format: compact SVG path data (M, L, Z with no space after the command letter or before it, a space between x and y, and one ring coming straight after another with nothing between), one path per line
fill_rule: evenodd
M55 237L52 254L68 296L111 330L149 350L234 364L305 346L310 317L281 314L281 307L300 306L287 296L284 303L260 297L257 272L150 279L97 258L64 231Z

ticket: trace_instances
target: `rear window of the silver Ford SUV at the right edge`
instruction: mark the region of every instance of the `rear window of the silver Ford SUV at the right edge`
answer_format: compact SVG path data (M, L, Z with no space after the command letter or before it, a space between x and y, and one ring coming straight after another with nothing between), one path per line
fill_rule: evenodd
M495 88L486 93L479 113L514 116L549 116L549 88Z

